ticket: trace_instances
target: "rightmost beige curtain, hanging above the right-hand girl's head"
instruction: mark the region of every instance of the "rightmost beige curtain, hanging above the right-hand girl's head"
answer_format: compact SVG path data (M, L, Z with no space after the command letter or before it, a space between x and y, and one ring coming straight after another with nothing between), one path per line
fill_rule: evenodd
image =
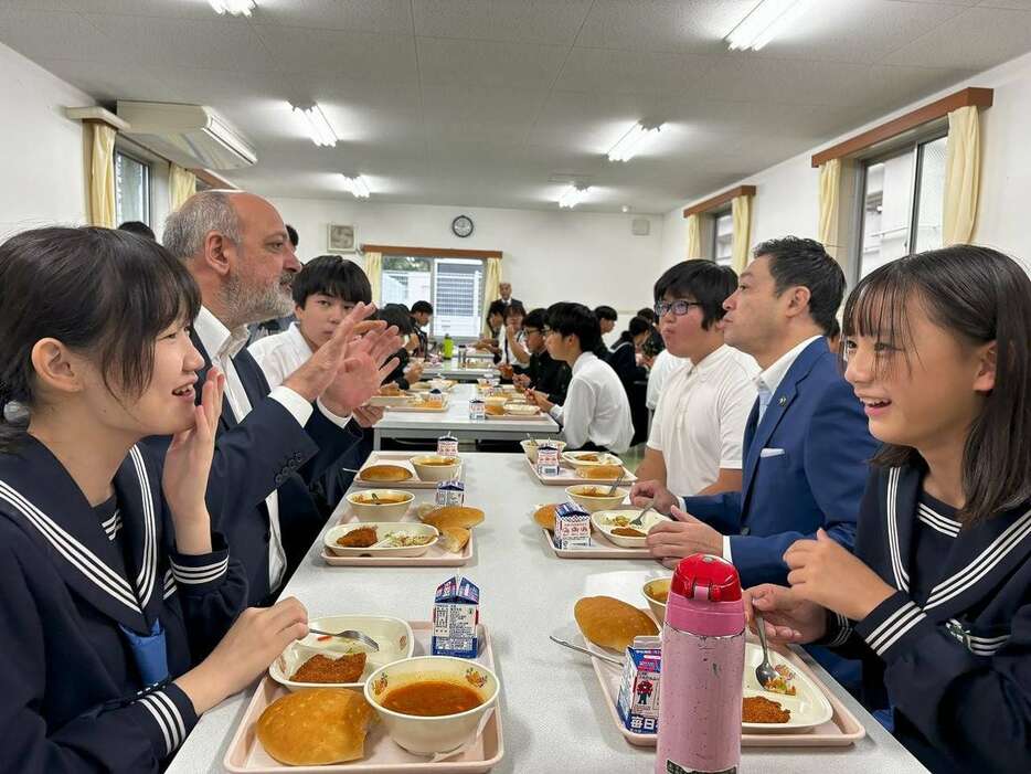
M945 205L942 244L965 244L974 238L980 176L980 128L977 108L948 114L948 158L945 166Z

